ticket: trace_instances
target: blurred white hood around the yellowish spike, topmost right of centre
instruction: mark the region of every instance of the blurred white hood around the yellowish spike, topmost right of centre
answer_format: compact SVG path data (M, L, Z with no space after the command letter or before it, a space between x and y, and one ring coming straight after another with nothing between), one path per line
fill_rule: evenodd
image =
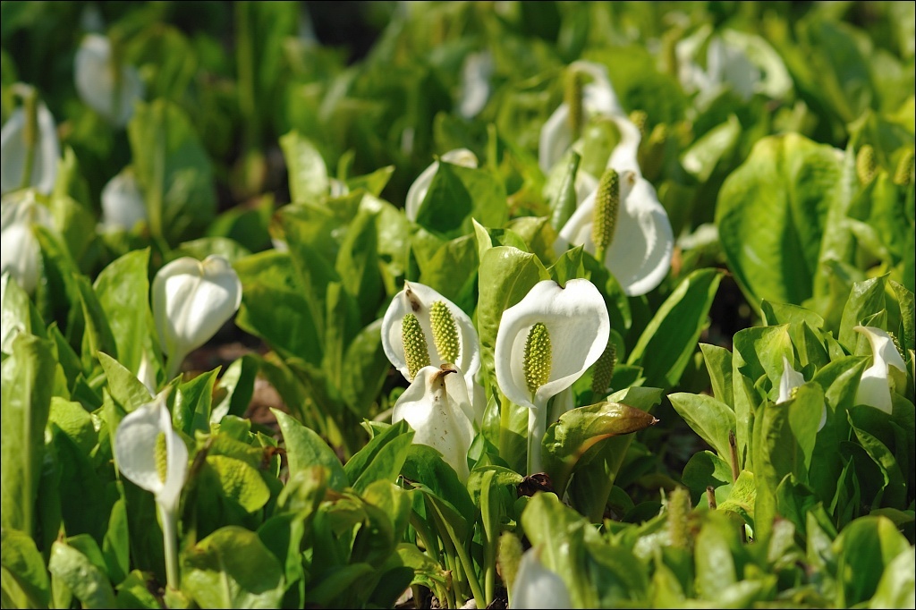
M623 107L617 100L614 87L607 77L605 66L594 61L573 61L569 70L581 71L592 77L592 82L585 83L582 89L583 123L587 123L596 115L626 117ZM561 103L540 129L538 164L545 174L562 158L567 148L573 145L569 114L569 104ZM638 144L637 140L637 146Z

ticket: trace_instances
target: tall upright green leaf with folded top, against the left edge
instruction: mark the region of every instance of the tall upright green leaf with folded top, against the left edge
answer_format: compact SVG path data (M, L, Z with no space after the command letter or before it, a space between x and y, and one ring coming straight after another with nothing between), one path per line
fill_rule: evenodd
M29 536L35 534L35 501L54 367L51 343L22 333L2 365L3 527Z

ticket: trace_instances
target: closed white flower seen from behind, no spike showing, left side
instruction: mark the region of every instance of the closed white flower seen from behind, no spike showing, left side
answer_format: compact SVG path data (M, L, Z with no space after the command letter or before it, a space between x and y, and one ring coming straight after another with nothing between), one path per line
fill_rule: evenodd
M183 256L159 269L152 285L153 318L169 374L210 341L242 302L242 282L223 256Z

